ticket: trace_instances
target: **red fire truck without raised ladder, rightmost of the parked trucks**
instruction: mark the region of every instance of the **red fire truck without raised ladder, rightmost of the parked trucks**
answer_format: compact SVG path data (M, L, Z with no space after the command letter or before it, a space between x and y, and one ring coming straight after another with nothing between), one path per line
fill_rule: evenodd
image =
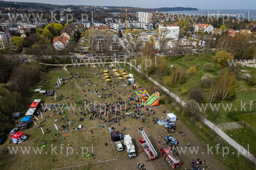
M181 166L181 160L172 152L172 150L170 150L169 146L164 146L164 148L161 148L160 152L173 169L177 169Z

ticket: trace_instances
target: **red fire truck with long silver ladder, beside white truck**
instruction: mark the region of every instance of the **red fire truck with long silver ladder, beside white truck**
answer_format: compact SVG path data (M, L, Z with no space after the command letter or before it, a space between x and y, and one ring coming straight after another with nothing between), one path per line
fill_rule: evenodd
M157 159L157 152L155 148L152 146L152 143L149 141L147 134L142 129L139 129L139 132L143 136L143 139L140 139L140 146L146 153L148 159L154 160Z

